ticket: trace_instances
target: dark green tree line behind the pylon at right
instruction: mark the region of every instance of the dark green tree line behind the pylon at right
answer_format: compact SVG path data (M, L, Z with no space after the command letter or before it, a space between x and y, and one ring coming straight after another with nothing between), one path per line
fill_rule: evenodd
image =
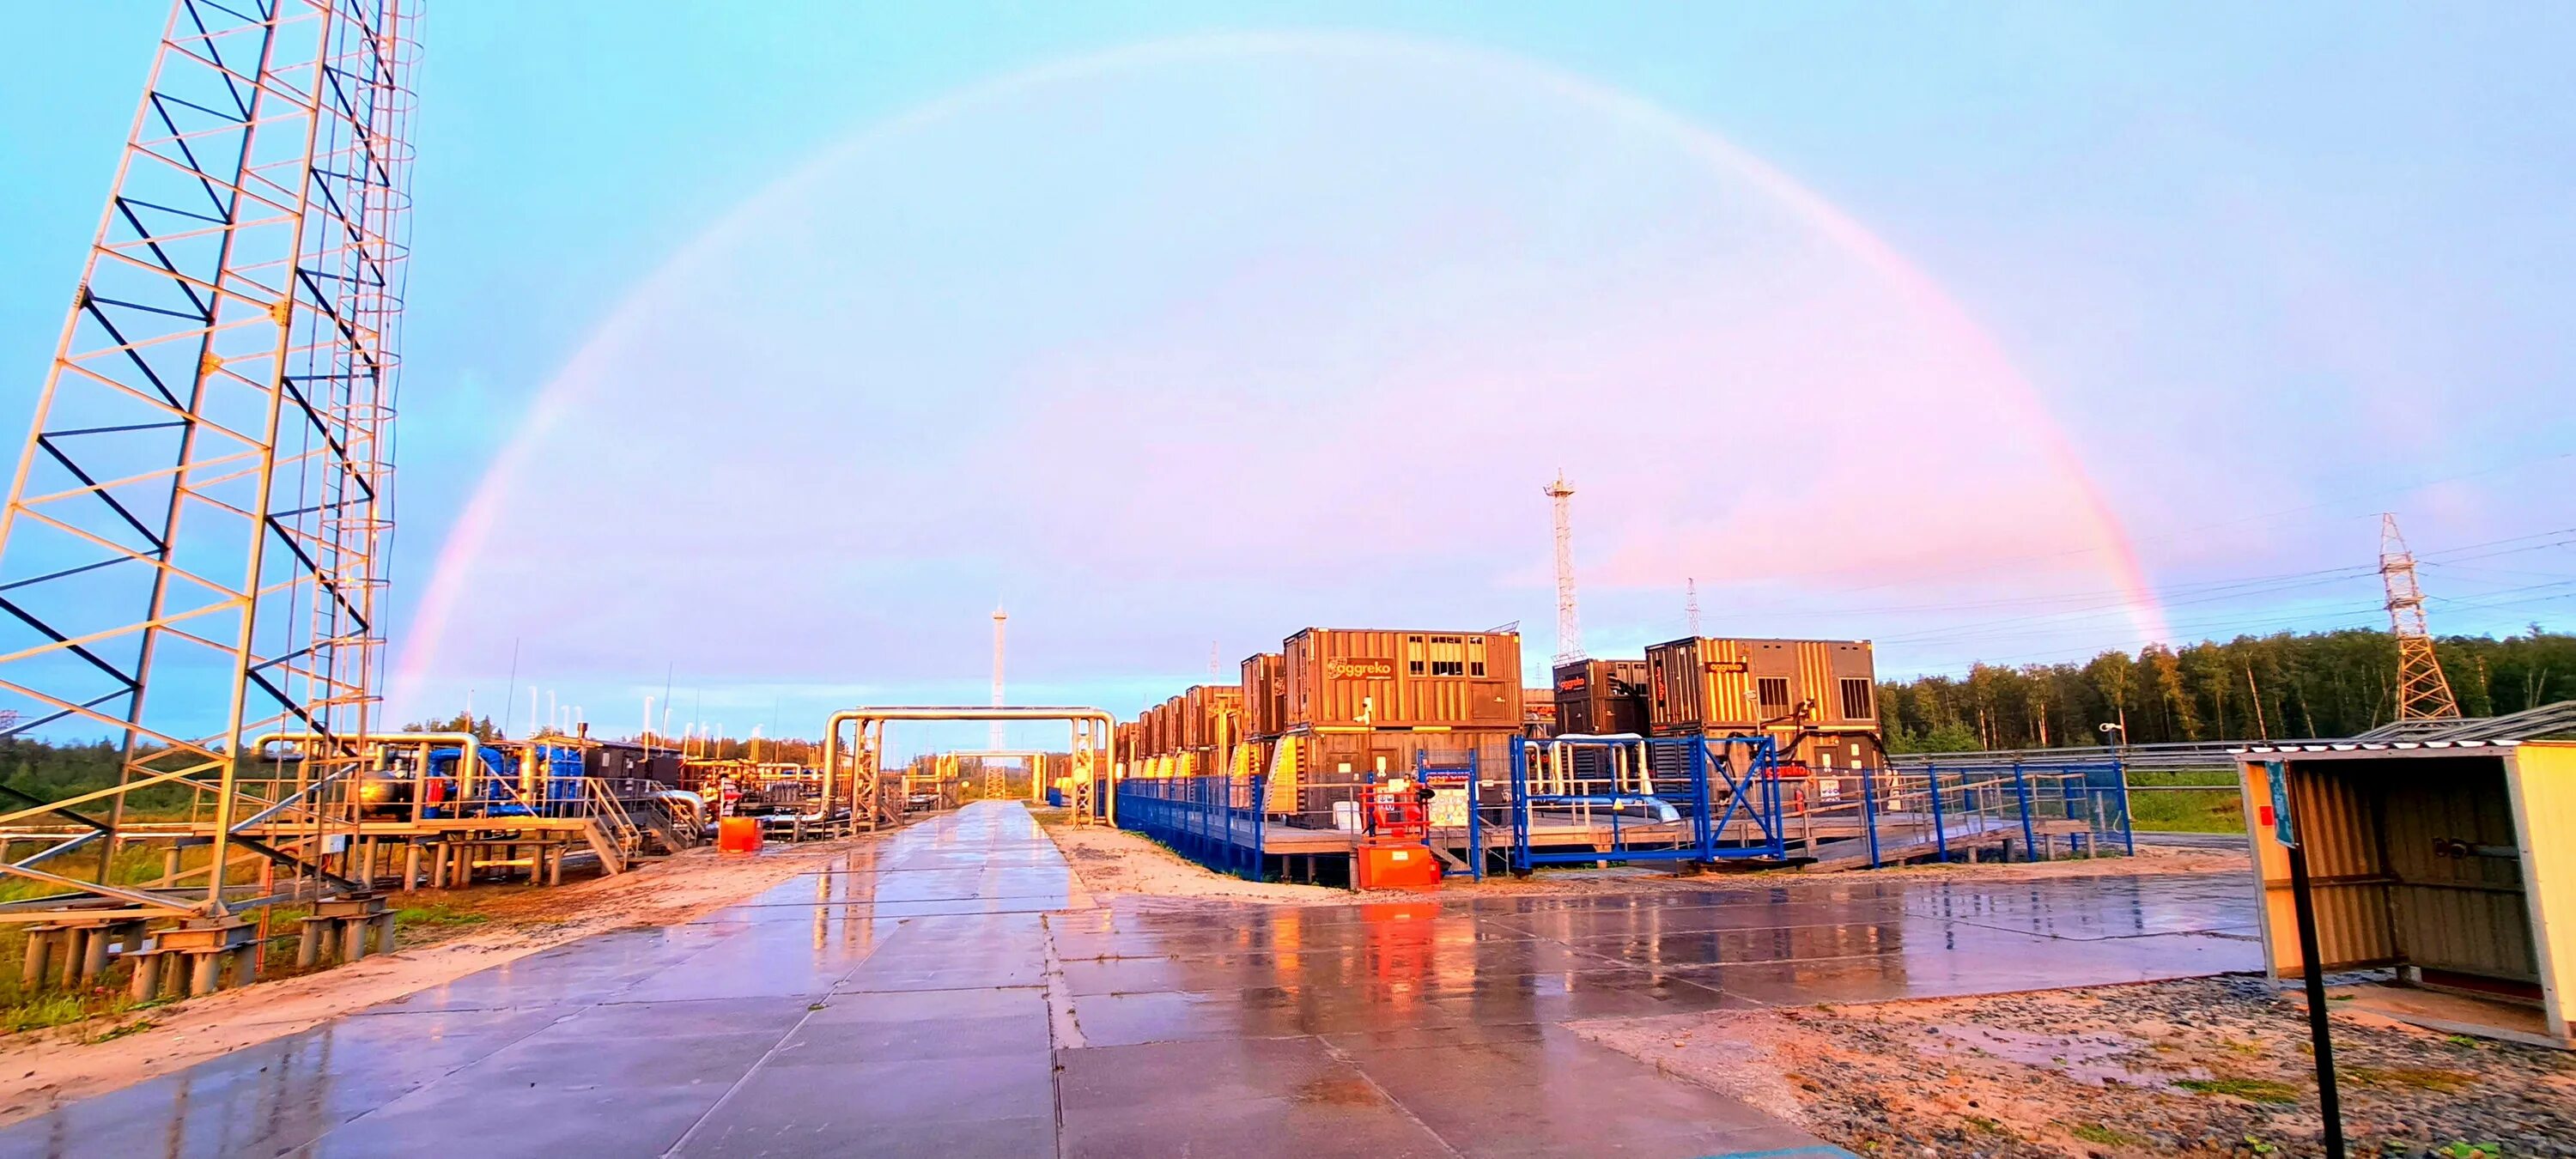
M2537 623L2506 639L2442 636L2434 657L2463 716L2576 701L2576 636ZM2352 737L2396 716L2396 685L2385 631L2282 631L1880 680L1878 719L1891 752L2084 747L2120 731L2130 744Z

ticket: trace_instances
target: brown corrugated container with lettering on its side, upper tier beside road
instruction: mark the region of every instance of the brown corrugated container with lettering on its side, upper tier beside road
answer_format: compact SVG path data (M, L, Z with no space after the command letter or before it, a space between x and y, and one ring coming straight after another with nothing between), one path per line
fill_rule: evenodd
M1306 628L1280 652L1285 726L1510 729L1520 634Z

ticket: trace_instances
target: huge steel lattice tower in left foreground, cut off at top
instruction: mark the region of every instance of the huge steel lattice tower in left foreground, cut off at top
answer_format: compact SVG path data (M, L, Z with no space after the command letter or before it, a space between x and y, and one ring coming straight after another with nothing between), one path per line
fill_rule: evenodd
M170 8L0 513L8 734L121 739L118 786L0 814L59 827L0 865L52 904L222 914L242 850L337 881L307 850L384 644L415 3ZM252 780L265 737L294 773ZM157 786L196 801L204 889L106 881Z

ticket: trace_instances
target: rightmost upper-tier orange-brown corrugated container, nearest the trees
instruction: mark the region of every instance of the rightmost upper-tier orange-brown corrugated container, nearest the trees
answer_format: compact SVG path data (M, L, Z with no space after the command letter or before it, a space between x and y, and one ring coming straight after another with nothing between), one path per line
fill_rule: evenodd
M1870 641L1705 639L1646 649L1646 724L1662 734L1878 729Z

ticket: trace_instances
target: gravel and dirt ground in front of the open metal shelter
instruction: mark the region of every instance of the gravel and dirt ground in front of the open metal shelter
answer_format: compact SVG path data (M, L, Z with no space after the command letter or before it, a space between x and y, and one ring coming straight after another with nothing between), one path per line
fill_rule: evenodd
M1584 1022L1868 1156L2321 1154L2308 1022L2262 979ZM2354 1156L2576 1156L2576 1056L2334 1020Z

